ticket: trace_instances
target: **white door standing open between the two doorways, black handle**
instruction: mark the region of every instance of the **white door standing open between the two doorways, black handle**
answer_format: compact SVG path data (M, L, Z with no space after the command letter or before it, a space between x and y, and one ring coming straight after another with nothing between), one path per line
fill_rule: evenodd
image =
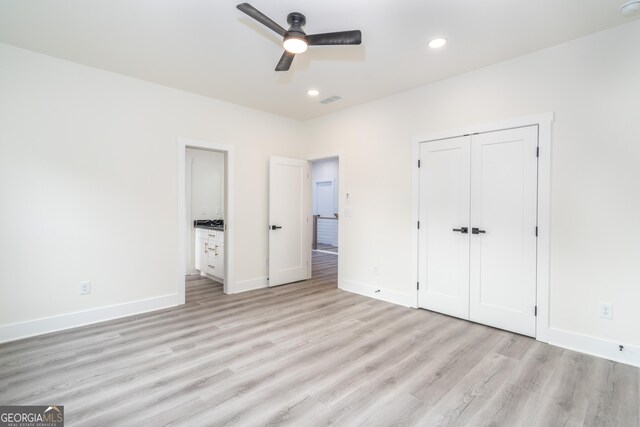
M310 277L309 163L271 157L269 167L269 286Z

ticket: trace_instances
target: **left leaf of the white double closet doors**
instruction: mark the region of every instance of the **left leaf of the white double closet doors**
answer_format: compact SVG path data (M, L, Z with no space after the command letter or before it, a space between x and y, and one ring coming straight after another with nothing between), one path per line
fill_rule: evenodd
M469 137L420 144L418 305L469 318ZM461 231L454 231L454 229Z

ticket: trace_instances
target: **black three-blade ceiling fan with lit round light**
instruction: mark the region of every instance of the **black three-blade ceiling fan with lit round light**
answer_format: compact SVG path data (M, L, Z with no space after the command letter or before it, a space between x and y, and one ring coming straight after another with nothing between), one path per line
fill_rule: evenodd
M282 45L284 47L284 53L280 61L278 61L278 65L276 65L276 71L287 71L291 67L296 53L306 51L308 46L356 45L362 43L362 33L360 30L307 35L302 29L307 19L299 12L291 12L287 16L287 22L290 27L288 30L285 30L249 3L242 3L237 7L242 12L283 37Z

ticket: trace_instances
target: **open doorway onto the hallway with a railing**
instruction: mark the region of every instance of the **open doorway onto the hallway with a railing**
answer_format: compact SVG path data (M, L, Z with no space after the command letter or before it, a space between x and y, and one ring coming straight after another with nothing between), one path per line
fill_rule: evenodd
M340 160L311 161L312 277L338 276Z

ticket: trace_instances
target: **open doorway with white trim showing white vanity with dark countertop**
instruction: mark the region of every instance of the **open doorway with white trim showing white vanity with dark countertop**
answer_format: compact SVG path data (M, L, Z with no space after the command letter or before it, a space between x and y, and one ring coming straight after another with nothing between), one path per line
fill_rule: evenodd
M234 293L235 147L178 138L178 296ZM191 296L191 298L189 297Z

